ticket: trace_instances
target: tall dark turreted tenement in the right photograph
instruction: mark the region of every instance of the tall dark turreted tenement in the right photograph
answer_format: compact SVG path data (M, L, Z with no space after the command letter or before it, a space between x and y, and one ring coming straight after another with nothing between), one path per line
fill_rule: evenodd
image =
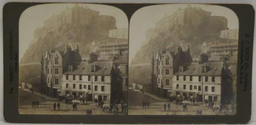
M187 66L191 62L189 47L183 51L182 47L178 46L176 54L169 48L158 50L155 60L152 60L152 93L162 98L170 98L173 95L173 74L178 70L177 67Z

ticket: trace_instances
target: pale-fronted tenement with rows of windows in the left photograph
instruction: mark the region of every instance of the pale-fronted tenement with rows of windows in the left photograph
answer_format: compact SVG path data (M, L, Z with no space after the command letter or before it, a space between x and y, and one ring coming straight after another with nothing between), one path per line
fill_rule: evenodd
M119 71L122 68L113 68L113 61L99 61L97 54L88 54L88 60L76 66L68 65L68 70L63 73L62 95L108 104L120 100L123 98L123 80Z

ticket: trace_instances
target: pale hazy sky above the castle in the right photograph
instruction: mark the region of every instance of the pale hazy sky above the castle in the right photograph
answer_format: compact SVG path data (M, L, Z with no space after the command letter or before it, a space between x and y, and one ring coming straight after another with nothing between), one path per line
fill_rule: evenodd
M165 15L171 15L179 7L184 9L187 4L154 5L138 9L129 22L129 64L146 39L146 30L155 27L155 23ZM228 19L229 29L238 29L238 17L226 7L216 5L191 4L191 7L200 7L211 12L211 16L223 16Z

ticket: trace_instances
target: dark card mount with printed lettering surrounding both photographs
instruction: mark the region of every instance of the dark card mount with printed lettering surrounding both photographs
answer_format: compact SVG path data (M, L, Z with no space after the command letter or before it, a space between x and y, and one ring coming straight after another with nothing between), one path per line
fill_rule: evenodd
M251 118L252 52L255 11L249 4L212 4L233 10L239 20L237 114L213 116L22 115L18 113L18 22L21 13L46 3L10 2L3 7L4 118L11 123L85 124L246 124ZM159 4L103 4L123 10L128 20L142 7ZM166 4L166 3L165 3ZM201 3L199 3L201 4ZM11 55L11 56L10 56ZM248 59L248 60L247 60Z

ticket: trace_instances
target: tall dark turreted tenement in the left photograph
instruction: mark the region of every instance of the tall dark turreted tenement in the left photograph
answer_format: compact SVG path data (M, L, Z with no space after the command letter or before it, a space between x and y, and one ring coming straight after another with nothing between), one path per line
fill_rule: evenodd
M67 71L68 65L76 65L81 61L78 45L74 50L67 45L66 52L56 47L53 50L47 49L46 56L41 61L43 71L41 76L45 76L41 79L46 79L46 83L42 83L46 95L58 97L61 94L63 72Z

